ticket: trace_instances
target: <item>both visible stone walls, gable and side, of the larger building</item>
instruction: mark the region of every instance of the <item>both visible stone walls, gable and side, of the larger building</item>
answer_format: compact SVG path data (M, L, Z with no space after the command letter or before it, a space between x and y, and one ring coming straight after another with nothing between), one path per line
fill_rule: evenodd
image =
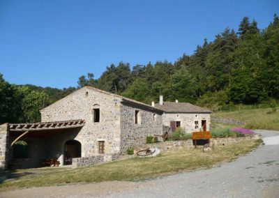
M131 102L134 104L133 102ZM84 87L62 98L41 111L42 121L66 121L84 119L85 125L73 135L54 135L50 151L59 155L63 161L63 144L75 139L82 144L82 157L98 155L98 141L105 142L105 154L119 155L134 144L146 142L147 135L162 135L162 113L155 115L144 105L123 102L120 96L91 87ZM93 122L93 109L100 109L100 122ZM135 109L140 111L140 124L135 124ZM54 144L54 143L53 143Z

